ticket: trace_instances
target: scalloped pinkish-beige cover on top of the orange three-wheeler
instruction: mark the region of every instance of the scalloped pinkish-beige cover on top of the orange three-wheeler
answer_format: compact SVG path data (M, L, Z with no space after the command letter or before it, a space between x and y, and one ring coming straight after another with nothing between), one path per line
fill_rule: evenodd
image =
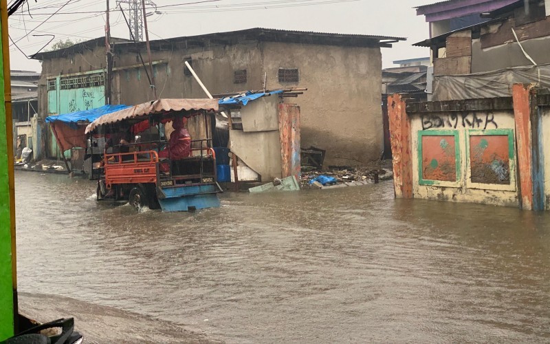
M146 102L133 107L128 107L111 114L103 115L91 122L85 133L94 131L100 125L108 125L122 120L138 118L142 116L162 114L166 111L192 111L207 110L218 111L219 104L217 99L159 99L152 102Z

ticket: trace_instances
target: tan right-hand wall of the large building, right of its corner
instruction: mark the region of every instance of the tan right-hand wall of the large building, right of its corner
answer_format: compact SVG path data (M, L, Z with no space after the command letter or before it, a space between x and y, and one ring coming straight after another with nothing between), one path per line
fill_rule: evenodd
M379 47L264 43L269 89L307 87L300 106L302 147L327 151L325 165L358 165L382 151L382 55ZM298 68L299 83L279 83L279 68Z

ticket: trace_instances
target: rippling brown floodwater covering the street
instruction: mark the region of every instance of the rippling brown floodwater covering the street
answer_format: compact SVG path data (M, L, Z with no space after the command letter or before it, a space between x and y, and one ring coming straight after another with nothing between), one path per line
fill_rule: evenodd
M16 171L20 292L227 343L550 341L549 214L394 200L392 182L225 193L197 213L95 189Z

